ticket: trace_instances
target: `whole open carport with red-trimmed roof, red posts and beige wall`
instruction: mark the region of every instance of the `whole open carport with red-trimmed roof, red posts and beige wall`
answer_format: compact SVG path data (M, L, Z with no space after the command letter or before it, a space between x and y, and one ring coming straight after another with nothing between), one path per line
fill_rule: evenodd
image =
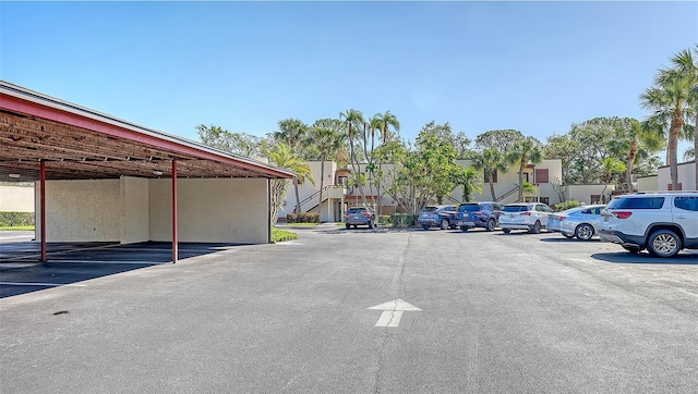
M41 261L53 241L167 241L173 262L179 242L268 243L269 183L292 176L0 81L0 181L35 182Z

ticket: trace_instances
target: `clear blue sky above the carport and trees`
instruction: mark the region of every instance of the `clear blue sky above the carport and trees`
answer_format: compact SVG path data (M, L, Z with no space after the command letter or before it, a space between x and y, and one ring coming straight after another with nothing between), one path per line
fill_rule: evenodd
M2 79L197 139L350 108L545 140L698 42L697 2L1 2ZM683 150L682 150L683 152Z

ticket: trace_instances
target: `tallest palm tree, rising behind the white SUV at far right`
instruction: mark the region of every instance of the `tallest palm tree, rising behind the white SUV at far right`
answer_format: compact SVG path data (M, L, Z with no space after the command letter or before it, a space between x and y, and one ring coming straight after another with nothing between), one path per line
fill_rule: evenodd
M670 124L666 156L674 190L678 189L678 138L695 110L694 90L695 84L684 73L665 69L659 72L654 85L640 95L640 107L652 111L648 121Z

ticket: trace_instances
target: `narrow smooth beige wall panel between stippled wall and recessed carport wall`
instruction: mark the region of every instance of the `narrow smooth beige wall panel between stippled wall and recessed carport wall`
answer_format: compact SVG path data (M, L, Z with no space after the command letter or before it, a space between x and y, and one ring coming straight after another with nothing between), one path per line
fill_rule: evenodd
M121 187L121 243L134 244L151 241L148 213L148 180L122 176Z

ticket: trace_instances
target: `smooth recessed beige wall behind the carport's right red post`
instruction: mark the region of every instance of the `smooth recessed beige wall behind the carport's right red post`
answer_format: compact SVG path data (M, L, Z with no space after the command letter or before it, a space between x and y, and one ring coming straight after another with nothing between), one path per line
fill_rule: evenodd
M151 241L172 238L172 184L151 180ZM180 242L264 244L269 241L266 178L178 180Z

